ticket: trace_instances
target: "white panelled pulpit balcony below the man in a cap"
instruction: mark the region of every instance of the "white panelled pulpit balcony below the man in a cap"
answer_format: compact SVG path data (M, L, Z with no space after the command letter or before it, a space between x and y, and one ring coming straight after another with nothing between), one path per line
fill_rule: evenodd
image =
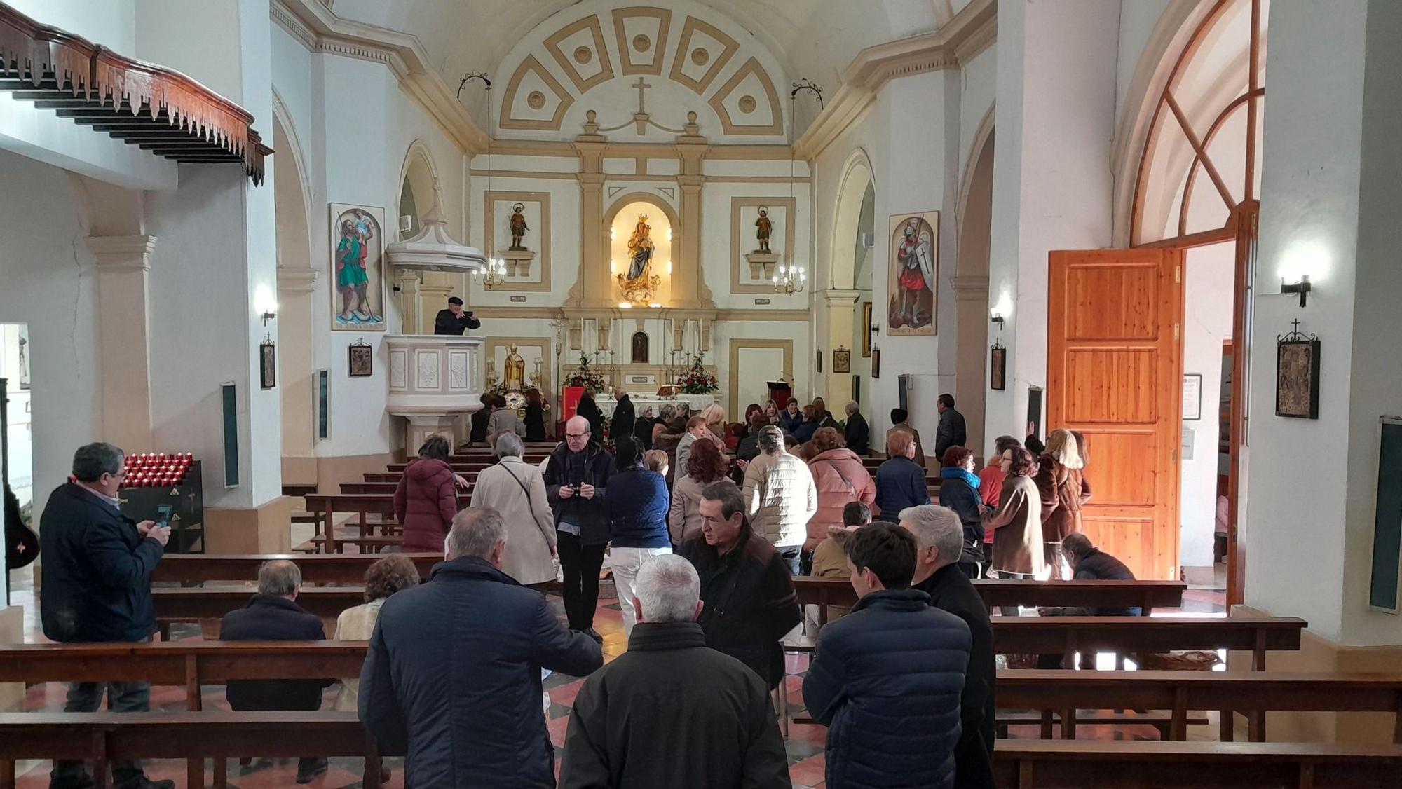
M390 348L384 409L408 420L405 450L415 454L433 433L451 441L454 422L482 408L482 338L387 335L384 342Z

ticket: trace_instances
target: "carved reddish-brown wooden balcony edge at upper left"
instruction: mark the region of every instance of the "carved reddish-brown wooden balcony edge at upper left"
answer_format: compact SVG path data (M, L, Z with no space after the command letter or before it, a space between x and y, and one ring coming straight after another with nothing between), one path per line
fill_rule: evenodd
M191 77L42 25L4 3L0 90L165 158L238 161L254 184L262 182L272 153L252 115Z

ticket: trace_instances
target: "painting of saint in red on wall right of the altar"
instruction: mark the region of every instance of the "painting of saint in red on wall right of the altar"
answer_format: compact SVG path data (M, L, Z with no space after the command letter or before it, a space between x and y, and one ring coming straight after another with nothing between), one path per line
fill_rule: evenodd
M939 214L897 214L890 224L889 334L934 335Z

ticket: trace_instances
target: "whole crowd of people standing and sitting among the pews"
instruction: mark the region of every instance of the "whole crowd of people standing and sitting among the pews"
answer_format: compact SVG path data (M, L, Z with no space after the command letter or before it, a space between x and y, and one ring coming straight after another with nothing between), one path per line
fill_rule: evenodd
M844 423L822 399L756 404L740 430L719 406L635 418L628 404L613 422L627 430L606 436L611 448L576 415L538 465L524 460L526 427L498 408L495 464L461 512L465 481L433 436L394 503L402 549L444 561L426 583L404 555L370 566L365 604L336 622L336 639L370 643L362 674L339 680L335 708L359 711L383 753L407 754L408 785L510 775L512 786L554 786L540 705L543 670L559 671L587 677L561 786L789 786L770 691L785 675L782 639L805 618L794 577L848 577L858 601L833 612L803 678L808 709L829 727L827 786L991 786L993 631L970 580L1133 575L1081 534L1082 436L1054 430L1037 454L1002 436L976 472L953 405L941 397L938 505L901 409L873 476L857 404ZM140 642L154 631L150 577L168 530L121 513L123 469L111 444L80 448L73 481L43 512L42 622L53 640ZM607 667L594 628L606 565L628 643ZM557 582L564 622L541 594ZM220 638L325 638L297 605L300 586L296 563L265 563ZM318 709L334 682L231 682L229 704ZM114 711L149 706L143 682L79 682L66 709L97 709L104 694ZM306 757L297 781L325 769ZM171 785L146 779L139 762L112 771L123 788ZM81 762L53 767L57 789L88 781Z

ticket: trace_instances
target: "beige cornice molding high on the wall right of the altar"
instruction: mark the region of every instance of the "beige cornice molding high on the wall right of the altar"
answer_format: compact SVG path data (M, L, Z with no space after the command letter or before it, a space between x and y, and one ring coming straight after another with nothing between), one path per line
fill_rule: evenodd
M794 156L813 161L876 101L892 80L960 69L993 45L997 36L997 1L973 0L948 24L927 32L868 46L843 73L843 87L794 142Z

